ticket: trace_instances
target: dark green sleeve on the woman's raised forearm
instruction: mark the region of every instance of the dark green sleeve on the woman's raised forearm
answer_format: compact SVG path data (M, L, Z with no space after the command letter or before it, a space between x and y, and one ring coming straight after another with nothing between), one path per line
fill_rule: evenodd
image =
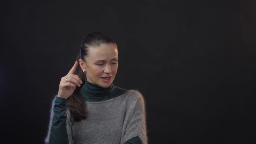
M53 106L53 122L50 130L49 144L69 144L66 129L67 99L56 97Z

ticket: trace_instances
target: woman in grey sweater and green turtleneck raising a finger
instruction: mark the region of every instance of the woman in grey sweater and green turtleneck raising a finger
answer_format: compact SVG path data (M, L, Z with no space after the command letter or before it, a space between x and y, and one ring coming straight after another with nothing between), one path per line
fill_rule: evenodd
M140 92L112 84L117 44L93 32L61 78L53 100L46 144L147 144L146 112Z

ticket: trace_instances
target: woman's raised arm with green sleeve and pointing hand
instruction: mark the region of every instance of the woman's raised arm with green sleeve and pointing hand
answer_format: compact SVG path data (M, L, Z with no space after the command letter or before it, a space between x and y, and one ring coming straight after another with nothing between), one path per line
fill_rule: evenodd
M67 98L75 91L76 86L80 87L82 80L78 75L74 75L78 62L75 61L69 73L63 76L59 82L59 91L53 100L51 109L51 118L49 123L48 135L45 139L46 144L68 144L73 143L69 120L67 121ZM68 123L68 125L67 125ZM68 129L68 133L67 133Z

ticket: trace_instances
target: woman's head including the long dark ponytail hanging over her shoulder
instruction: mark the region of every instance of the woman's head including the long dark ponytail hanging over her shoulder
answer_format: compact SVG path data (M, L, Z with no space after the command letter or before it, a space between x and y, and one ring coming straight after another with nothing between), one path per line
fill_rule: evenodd
M76 67L75 75L82 81L87 77L89 82L107 88L115 79L118 69L117 44L104 33L89 33L82 40L76 60L79 66ZM79 92L82 85L75 88L74 93L68 98L68 108L73 122L87 118L86 103Z

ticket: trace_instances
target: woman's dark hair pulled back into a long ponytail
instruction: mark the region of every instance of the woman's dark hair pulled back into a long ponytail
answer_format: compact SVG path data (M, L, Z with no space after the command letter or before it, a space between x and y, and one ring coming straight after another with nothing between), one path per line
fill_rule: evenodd
M79 62L79 59L82 59L82 61L86 62L86 57L88 56L89 47L100 46L101 44L108 44L108 43L116 44L115 41L110 36L102 32L89 33L82 39L80 51L76 58L77 62ZM80 65L76 67L74 74L78 75L83 82L85 81L86 75L82 71ZM81 121L82 119L87 118L85 100L82 94L80 93L80 89L83 85L84 83L82 83L80 87L76 87L73 94L68 98L68 109L70 111L72 122Z

